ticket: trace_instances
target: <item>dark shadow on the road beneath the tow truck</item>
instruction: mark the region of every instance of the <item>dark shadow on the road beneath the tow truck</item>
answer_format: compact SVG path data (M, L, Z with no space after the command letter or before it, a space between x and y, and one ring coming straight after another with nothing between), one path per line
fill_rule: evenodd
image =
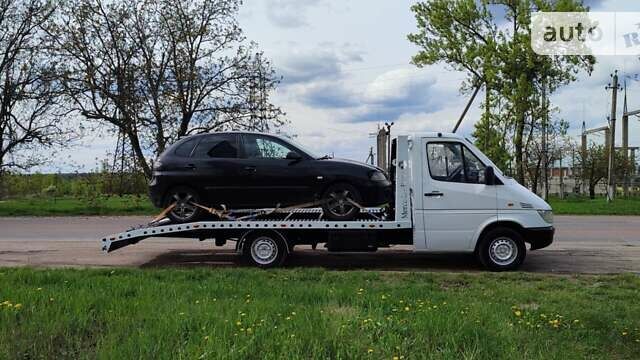
M174 250L163 253L141 267L250 267L230 249ZM469 254L416 254L408 250L375 253L329 253L324 250L296 250L285 268L380 271L482 271Z

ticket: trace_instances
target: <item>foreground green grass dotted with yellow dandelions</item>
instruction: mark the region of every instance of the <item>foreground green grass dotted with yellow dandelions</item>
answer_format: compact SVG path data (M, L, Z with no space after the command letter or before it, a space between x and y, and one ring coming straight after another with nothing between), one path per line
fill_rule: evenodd
M3 269L0 358L637 359L639 298L635 275Z

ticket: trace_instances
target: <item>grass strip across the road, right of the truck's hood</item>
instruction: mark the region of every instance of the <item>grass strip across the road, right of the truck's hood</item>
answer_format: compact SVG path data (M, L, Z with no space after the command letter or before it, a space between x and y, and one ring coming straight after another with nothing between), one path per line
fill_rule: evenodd
M610 204L605 198L550 198L549 204L558 215L640 215L640 198L618 198Z

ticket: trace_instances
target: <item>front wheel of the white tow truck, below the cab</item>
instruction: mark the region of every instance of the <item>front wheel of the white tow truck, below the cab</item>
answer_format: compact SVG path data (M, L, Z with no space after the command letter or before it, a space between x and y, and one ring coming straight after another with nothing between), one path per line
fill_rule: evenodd
M517 231L495 228L480 240L477 256L480 263L491 271L511 271L522 265L527 247Z

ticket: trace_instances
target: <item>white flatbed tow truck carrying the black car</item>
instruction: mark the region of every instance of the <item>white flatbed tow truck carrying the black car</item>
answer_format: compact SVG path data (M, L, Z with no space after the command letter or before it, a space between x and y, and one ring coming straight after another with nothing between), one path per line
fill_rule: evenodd
M248 261L269 268L282 265L296 245L359 252L403 244L420 253L474 253L488 269L504 271L523 263L526 244L536 250L553 241L551 207L459 135L396 136L391 164L394 201L362 209L352 221L325 220L319 208L242 210L186 224L160 219L104 237L102 250L151 237L235 241Z

